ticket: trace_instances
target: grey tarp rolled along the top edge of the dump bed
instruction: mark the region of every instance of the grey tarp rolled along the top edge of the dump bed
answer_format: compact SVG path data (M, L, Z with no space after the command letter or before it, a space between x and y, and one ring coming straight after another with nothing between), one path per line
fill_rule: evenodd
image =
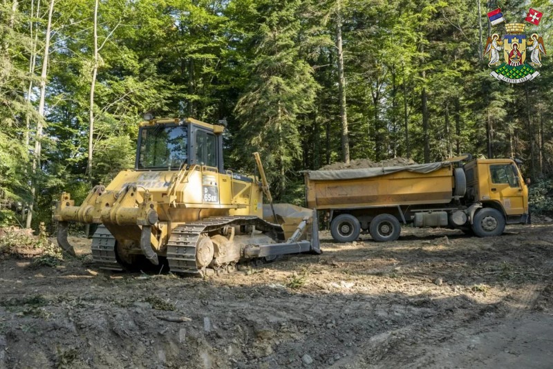
M406 165L405 167L340 169L337 171L308 171L307 173L310 180L353 180L355 178L384 176L398 171L430 173L443 167L449 167L449 165L451 165L451 162L431 162L428 164Z

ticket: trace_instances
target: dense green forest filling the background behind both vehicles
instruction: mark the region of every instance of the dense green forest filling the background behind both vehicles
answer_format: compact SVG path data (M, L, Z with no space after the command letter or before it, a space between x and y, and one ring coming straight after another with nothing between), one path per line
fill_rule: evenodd
M525 34L553 50L546 0L2 0L0 225L49 224L59 193L132 168L144 113L226 120L225 166L259 151L285 202L332 162L471 153L522 160L553 208L553 64L491 77L498 6L543 12Z

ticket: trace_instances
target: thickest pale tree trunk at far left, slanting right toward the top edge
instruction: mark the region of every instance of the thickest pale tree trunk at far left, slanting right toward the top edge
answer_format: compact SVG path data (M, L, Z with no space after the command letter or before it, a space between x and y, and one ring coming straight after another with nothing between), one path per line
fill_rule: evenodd
M48 73L48 57L50 56L50 33L52 32L52 14L54 12L54 0L50 0L48 7L48 23L46 25L46 34L44 35L44 56L42 57L42 71L40 74L40 98L39 98L39 120L37 122L37 133L35 137L35 158L32 160L32 185L31 196L32 202L29 205L29 214L27 216L26 227L30 228L32 221L32 209L36 201L37 193L37 172L40 168L40 151L42 129L44 122L44 104L46 100L46 77Z

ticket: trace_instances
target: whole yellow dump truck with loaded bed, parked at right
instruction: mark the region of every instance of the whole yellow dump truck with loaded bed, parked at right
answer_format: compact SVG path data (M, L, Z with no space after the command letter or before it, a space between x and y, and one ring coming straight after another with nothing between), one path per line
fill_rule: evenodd
M498 236L506 224L528 218L528 189L510 159L465 155L405 167L307 171L305 178L308 207L329 213L338 242L362 233L377 242L397 240L401 224Z

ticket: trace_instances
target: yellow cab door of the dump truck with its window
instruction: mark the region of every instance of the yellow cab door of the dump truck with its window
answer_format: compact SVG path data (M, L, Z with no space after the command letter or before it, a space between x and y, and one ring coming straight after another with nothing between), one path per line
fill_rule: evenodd
M523 188L513 164L490 164L489 174L491 200L501 202L507 215L524 214Z

